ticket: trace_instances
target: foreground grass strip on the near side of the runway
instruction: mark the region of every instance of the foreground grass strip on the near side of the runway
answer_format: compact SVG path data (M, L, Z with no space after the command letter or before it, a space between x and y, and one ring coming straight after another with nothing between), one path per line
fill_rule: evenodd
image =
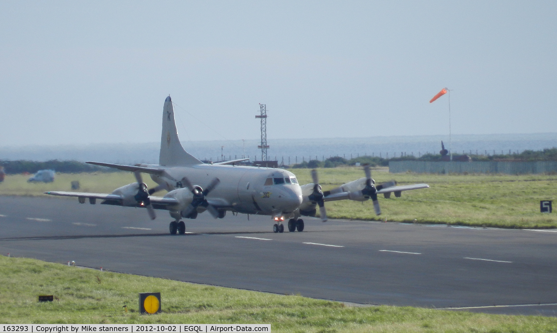
M138 314L139 292L161 292L162 313ZM54 295L38 302L38 295ZM557 332L557 319L416 307L350 307L298 295L196 285L0 256L6 324L271 324L273 332ZM129 312L123 311L127 305Z

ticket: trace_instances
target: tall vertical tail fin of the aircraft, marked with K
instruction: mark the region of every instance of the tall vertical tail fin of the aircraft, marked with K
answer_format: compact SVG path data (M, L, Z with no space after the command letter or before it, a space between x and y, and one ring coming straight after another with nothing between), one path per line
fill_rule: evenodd
M174 108L170 96L164 101L163 108L163 131L160 135L160 155L159 165L165 166L186 166L193 164L203 164L197 158L189 155L180 140L174 122Z

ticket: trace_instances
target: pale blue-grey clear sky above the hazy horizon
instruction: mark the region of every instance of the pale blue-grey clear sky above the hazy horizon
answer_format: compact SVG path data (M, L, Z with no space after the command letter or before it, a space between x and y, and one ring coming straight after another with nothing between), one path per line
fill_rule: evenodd
M557 2L0 1L0 146L555 130Z

